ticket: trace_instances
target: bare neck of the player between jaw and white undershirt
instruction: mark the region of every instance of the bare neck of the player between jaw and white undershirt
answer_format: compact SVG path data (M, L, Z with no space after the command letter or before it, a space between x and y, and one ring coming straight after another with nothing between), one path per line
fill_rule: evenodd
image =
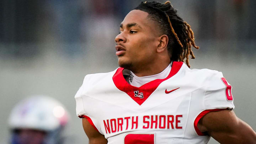
M169 66L170 63L160 63L160 64L155 64L155 65L144 65L144 66L139 66L139 69L134 69L131 70L134 75L138 77L142 76L150 76L150 75L156 75L161 73L163 70Z

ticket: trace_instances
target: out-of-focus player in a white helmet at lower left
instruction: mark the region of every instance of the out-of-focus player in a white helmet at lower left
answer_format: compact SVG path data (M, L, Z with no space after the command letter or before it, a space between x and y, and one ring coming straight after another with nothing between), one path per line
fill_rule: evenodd
M68 122L63 105L51 97L34 96L19 102L11 112L11 144L63 144Z

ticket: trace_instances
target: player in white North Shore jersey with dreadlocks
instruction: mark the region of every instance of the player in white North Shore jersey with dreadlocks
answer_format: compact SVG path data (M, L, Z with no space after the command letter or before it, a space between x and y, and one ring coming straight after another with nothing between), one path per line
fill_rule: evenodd
M222 73L190 69L199 47L169 1L142 2L115 41L120 68L86 75L75 95L89 144L256 143Z

